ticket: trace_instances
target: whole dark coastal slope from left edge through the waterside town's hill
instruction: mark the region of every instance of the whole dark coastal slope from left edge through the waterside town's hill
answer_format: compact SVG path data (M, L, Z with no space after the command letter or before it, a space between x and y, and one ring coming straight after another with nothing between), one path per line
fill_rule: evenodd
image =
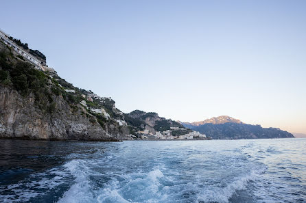
M31 50L1 33L0 138L206 139L157 113L121 112L111 98L62 79L45 64L43 53L28 55Z

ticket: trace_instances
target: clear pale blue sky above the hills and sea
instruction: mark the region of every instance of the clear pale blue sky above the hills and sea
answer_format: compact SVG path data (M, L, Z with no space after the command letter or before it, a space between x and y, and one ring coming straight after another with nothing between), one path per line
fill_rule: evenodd
M3 0L0 19L125 113L306 133L306 1Z

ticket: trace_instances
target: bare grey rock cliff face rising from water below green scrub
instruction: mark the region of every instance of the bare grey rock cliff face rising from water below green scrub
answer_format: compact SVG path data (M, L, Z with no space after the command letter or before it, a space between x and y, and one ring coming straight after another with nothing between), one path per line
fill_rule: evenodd
M56 96L56 111L45 113L36 107L33 94L21 96L0 85L0 137L23 139L130 139L127 126L107 123L104 128L79 106L71 109L62 96Z

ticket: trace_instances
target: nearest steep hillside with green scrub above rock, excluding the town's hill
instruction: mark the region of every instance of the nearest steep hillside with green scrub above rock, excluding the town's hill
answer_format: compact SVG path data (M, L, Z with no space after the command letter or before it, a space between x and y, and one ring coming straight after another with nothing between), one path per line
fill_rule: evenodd
M131 139L114 100L37 70L15 50L0 41L0 138Z

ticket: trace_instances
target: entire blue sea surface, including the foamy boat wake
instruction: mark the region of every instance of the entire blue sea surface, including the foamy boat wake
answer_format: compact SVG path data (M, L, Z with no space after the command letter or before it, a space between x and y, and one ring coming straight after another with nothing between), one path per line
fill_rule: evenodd
M0 202L306 202L306 139L0 147Z

